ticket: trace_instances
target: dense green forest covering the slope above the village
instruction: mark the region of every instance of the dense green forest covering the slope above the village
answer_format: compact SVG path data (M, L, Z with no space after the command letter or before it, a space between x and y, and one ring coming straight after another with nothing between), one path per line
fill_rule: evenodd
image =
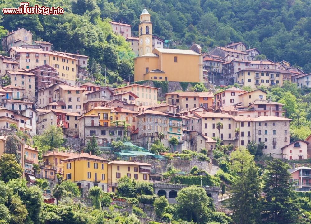
M1 8L16 8L16 0L0 1ZM146 7L151 14L153 33L165 40L178 41L180 48L193 42L205 51L234 41L257 47L274 61L286 60L311 72L310 0L46 0L31 5L63 7L63 15L5 15L3 28L24 27L34 39L53 43L55 50L90 56L90 73L104 83L133 75L133 57L123 37L112 33L108 21L123 21L133 26L136 36L139 14Z

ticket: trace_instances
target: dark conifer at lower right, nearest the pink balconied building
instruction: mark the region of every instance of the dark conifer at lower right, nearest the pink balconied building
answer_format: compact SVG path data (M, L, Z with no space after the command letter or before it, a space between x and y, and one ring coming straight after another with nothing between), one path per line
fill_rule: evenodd
M298 206L291 199L294 194L289 165L279 159L267 162L263 176L263 191L266 197L262 200L263 217L275 223L294 223L298 219Z

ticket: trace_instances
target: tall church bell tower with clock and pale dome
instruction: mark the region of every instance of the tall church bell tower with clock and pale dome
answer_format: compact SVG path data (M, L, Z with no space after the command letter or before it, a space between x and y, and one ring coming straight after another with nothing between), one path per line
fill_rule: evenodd
M152 52L152 23L150 14L145 8L140 14L140 23L138 24L138 54L142 56Z

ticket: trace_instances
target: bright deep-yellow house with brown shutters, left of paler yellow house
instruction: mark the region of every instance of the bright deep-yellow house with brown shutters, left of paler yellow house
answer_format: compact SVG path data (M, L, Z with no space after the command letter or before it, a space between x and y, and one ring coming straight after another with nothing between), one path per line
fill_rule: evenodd
M91 153L73 155L64 162L64 178L77 183L79 188L84 188L88 192L91 187L98 186L107 192L107 163L109 160L101 158Z

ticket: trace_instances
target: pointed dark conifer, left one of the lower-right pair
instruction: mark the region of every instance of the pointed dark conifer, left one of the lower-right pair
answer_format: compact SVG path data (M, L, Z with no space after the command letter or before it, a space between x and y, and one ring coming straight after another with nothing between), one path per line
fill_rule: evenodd
M246 173L242 173L233 185L230 205L233 210L232 219L236 224L260 223L260 180L257 169L251 164Z

